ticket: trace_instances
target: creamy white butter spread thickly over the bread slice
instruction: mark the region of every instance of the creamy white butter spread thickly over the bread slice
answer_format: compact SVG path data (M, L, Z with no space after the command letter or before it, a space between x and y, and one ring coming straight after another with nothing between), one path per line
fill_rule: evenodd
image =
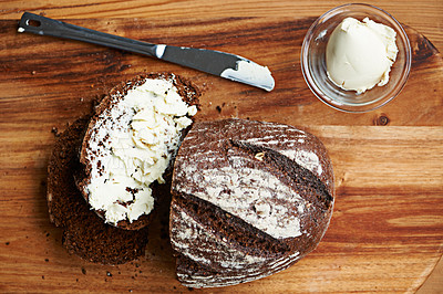
M105 221L130 222L154 208L150 185L163 174L181 145L181 133L196 106L183 102L171 81L146 80L97 119L89 141L90 206Z

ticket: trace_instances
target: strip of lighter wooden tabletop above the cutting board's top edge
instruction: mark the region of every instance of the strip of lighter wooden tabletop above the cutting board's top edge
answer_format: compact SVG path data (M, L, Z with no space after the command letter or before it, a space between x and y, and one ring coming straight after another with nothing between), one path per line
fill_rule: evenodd
M30 11L50 18L230 18L274 17L302 18L318 17L337 6L349 1L309 0L7 0L0 7L1 19L19 19ZM403 22L430 38L439 51L443 51L443 2L441 0L375 0L365 1L380 7Z

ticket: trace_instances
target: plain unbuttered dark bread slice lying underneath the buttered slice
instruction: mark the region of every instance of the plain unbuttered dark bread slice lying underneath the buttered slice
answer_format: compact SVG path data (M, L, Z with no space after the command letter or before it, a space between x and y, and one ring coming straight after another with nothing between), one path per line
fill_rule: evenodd
M121 230L105 224L78 190L73 170L80 168L78 151L90 116L75 120L56 140L48 166L50 220L63 230L63 245L70 253L102 263L121 264L144 255L147 228Z

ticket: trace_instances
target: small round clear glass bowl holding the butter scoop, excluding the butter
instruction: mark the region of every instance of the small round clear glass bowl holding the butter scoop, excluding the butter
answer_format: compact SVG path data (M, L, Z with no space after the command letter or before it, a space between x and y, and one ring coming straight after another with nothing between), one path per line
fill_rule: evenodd
M338 87L327 75L326 46L329 36L346 18L362 21L369 18L392 28L396 33L399 53L391 67L389 82L362 94ZM301 46L301 70L312 93L327 105L343 112L373 111L392 101L404 87L411 69L411 45L401 24L388 12L369 4L344 4L329 10L308 30Z

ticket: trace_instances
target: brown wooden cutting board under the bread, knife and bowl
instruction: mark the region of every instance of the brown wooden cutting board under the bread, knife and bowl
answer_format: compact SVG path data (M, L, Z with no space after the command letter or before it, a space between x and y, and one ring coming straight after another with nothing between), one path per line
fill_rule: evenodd
M319 102L300 70L315 19L107 19L69 22L122 36L249 57L276 88L247 85L125 52L17 33L0 21L0 292L188 292L157 221L146 256L91 264L61 245L45 202L49 154L62 132L113 85L142 72L174 72L203 91L197 119L241 117L300 126L333 162L337 202L310 255L270 277L210 292L414 292L443 252L443 60L406 28L410 80L381 109L344 114ZM196 292L199 292L196 290Z

